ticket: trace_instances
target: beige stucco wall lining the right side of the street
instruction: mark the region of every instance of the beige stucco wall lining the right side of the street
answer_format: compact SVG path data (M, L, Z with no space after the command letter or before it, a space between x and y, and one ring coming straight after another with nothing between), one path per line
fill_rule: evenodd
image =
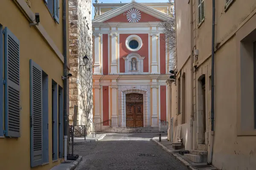
M251 96L253 93L253 86L241 82L240 76L252 77L250 69L247 70L247 74L241 75L240 57L243 59L244 55L251 55L250 53L241 54L240 49L243 46L240 45L240 41L246 37L256 26L253 25L253 21L256 20L256 2L255 0L235 0L227 10L224 9L225 1L217 0L216 4L216 16L215 16L215 45L218 49L215 52L215 136L213 141L213 158L212 164L222 170L254 170L256 166L256 136L255 130L247 124L252 124L253 119L253 104L248 105L249 108L241 110L243 103L251 103ZM212 1L205 1L205 20L198 27L198 0L192 0L193 3L193 38L194 49L199 50L198 55L198 68L195 71L194 78L194 121L197 121L198 108L202 103L199 100L198 95L198 79L201 75L205 74L206 80L206 131L210 132L210 111L211 111L211 33L212 33ZM190 62L186 64L186 58L189 56L189 41L190 41L190 27L189 27L189 4L176 0L176 22L177 27L180 24L180 28L177 28L177 69L183 66L183 69L190 68ZM184 15L184 16L183 16ZM182 20L187 19L186 23ZM245 24L249 23L250 24ZM182 33L182 34L181 34ZM251 43L253 40L250 40ZM254 40L255 41L255 40ZM186 54L186 55L185 55ZM194 56L195 57L195 56ZM248 63L248 66L250 64ZM179 74L179 73L178 73ZM186 75L188 77L190 75ZM250 82L252 83L252 82ZM247 87L247 98L241 98L241 85ZM177 87L177 86L176 86ZM244 87L244 86L243 86ZM191 84L186 84L186 97L190 95ZM175 87L172 88L172 96L176 96ZM241 100L242 99L242 100ZM242 102L241 102L242 101ZM190 100L186 100L186 107L190 108ZM174 105L172 103L172 105ZM176 110L173 110L177 113ZM175 115L172 113L172 115ZM189 112L186 112L186 116L190 116ZM242 121L241 121L241 116ZM245 118L244 118L245 116ZM188 119L186 119L188 121ZM200 123L195 122L197 127ZM246 126L247 125L247 126ZM186 127L186 125L183 125ZM241 129L247 128L247 131ZM186 130L182 130L185 132ZM206 142L209 142L206 133ZM197 145L197 134L193 134L194 147ZM243 135L243 136L241 136ZM249 136L250 135L250 136ZM183 135L182 135L183 136ZM196 144L195 144L196 142ZM209 145L208 145L209 151Z

